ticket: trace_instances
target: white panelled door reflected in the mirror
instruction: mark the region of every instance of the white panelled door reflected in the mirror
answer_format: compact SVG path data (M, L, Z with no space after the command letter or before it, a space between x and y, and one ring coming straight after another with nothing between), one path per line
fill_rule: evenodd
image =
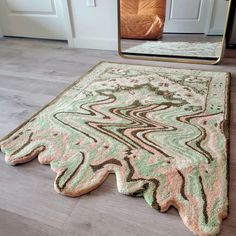
M211 20L212 3L211 0L167 0L164 32L205 33Z

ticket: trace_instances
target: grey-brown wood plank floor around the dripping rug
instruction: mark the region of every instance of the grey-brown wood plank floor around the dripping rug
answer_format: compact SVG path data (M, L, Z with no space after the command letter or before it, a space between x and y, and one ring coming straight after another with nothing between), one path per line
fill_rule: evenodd
M112 51L69 49L64 42L2 39L0 137L102 60L232 73L230 215L220 235L236 235L236 58L218 66L144 62L122 59ZM119 194L112 175L80 198L54 192L54 178L49 166L37 160L11 167L0 154L0 236L192 235L174 209L159 213L142 198Z

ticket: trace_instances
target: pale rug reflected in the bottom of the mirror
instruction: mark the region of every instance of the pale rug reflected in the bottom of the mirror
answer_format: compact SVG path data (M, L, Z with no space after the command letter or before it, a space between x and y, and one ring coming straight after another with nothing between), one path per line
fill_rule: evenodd
M219 58L221 49L221 42L146 41L140 45L128 48L124 52L162 56Z

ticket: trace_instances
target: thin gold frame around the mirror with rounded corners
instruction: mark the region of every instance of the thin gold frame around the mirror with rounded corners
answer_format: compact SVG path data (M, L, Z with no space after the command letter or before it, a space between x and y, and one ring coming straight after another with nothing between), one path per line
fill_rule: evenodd
M121 50L121 33L120 33L120 0L117 0L117 15L118 15L118 52L119 55L122 58L126 58L126 59L135 59L135 60L148 60L148 61L162 61L162 62L179 62L179 63L190 63L190 64L204 64L204 65L216 65L218 64L223 56L224 56L224 51L225 51L225 44L226 44L226 31L227 31L227 25L228 25L228 21L229 21L229 13L230 13L230 8L231 8L231 3L232 0L226 0L229 2L229 6L228 6L228 10L227 10L227 14L226 14L226 19L225 19L225 26L224 26L224 33L222 36L222 48L221 48L221 54L220 57L218 59L214 60L207 60L207 59L187 59L187 58L169 58L169 57L158 57L158 55L156 57L148 57L148 56L142 56L140 54L140 56L136 56L136 55L127 55L124 54Z

